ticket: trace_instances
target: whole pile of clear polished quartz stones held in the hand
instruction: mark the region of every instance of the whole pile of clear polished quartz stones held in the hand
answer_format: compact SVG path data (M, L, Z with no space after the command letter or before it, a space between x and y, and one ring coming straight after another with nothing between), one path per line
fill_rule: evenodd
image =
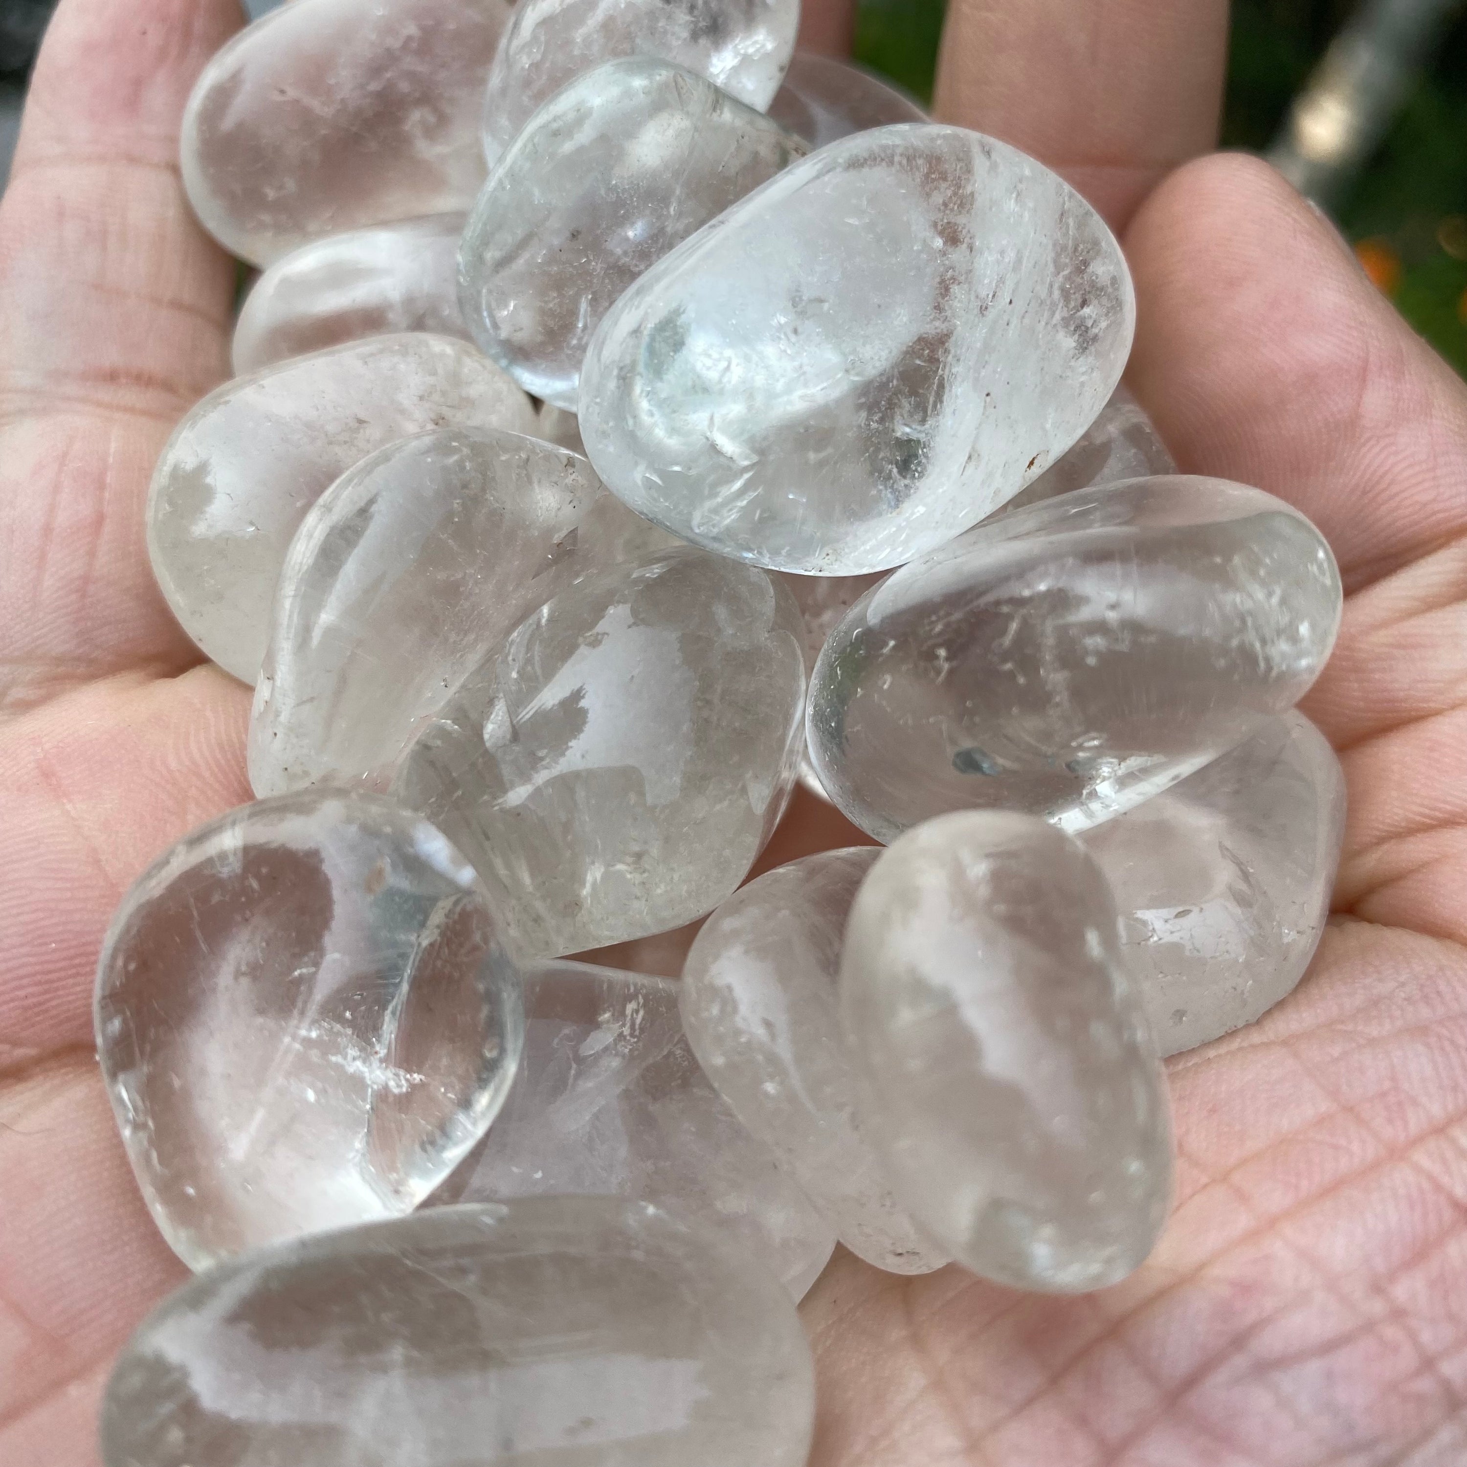
M838 1243L1118 1282L1160 1056L1310 961L1329 549L1175 472L1084 200L797 21L292 0L194 91L263 273L147 533L260 798L101 955L197 1270L109 1467L797 1467ZM870 842L747 882L801 780Z

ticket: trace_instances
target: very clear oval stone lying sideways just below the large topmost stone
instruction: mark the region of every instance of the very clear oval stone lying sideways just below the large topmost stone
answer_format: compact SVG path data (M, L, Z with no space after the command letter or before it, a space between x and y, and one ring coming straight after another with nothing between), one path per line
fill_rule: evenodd
M811 678L811 761L879 841L974 807L1084 829L1292 707L1339 606L1319 531L1262 490L1174 475L1065 494L857 603Z

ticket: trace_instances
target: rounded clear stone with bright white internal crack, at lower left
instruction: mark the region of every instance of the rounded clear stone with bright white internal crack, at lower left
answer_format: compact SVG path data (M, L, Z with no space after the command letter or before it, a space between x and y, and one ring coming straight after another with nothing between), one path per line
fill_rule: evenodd
M411 1212L484 1134L524 1028L472 867L380 795L245 805L123 898L97 1055L191 1267Z

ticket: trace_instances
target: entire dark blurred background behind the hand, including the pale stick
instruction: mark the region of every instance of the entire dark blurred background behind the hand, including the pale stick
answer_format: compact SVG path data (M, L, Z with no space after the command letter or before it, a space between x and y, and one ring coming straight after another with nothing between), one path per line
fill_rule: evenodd
M0 186L50 7L0 0ZM942 15L943 0L863 0L857 59L929 100ZM1467 0L1234 0L1222 139L1329 208L1467 374Z

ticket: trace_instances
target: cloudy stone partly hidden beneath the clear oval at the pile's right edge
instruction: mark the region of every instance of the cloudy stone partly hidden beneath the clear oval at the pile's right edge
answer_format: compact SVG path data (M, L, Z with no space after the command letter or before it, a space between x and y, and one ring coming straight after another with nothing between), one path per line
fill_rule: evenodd
M1325 932L1344 823L1335 751L1287 713L1084 832L1163 1056L1251 1024L1292 993Z

